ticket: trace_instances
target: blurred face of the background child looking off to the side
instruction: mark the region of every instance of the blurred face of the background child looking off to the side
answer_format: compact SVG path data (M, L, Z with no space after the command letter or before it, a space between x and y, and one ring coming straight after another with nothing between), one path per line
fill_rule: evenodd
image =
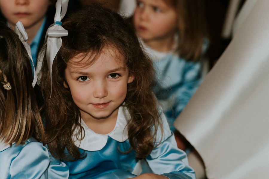
M145 41L165 38L177 30L177 13L163 0L137 0L134 24Z

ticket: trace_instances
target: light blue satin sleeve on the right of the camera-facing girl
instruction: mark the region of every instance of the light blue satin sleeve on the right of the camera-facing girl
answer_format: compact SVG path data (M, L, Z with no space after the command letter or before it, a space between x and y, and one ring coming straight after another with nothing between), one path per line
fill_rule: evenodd
M157 141L161 139L161 143L146 158L149 167L153 173L170 179L195 179L195 172L188 164L187 155L178 149L174 134L163 113L161 118L163 135L160 138L161 130L157 131Z

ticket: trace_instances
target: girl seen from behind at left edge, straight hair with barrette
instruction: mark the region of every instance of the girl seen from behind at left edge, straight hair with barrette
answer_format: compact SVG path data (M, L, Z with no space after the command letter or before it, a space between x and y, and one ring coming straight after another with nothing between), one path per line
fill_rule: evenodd
M0 178L48 178L50 162L27 51L0 22Z

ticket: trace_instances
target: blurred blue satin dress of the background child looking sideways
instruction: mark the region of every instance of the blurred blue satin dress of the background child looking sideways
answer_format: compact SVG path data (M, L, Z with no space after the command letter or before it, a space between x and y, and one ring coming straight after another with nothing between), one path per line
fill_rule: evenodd
M190 62L178 57L175 53L162 53L151 49L142 42L145 51L152 59L155 67L156 83L153 91L165 113L171 131L175 131L173 123L189 102L202 82L201 61ZM203 53L209 41L204 41Z

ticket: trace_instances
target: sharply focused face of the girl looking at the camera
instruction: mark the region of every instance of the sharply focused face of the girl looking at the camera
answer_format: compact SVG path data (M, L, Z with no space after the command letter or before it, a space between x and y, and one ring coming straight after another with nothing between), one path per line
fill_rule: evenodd
M76 55L65 69L73 101L82 116L106 118L123 103L134 76L129 75L124 58L114 48L104 50L88 67L79 62L83 57Z

